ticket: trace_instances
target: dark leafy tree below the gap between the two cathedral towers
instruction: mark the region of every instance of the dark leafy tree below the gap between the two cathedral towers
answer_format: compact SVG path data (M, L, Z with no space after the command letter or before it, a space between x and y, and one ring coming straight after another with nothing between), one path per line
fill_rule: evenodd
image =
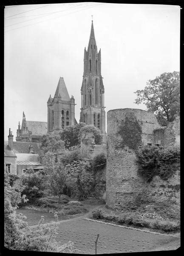
M60 133L60 139L65 141L65 148L71 148L76 145L80 145L79 132L85 123L80 122L79 124L67 126Z

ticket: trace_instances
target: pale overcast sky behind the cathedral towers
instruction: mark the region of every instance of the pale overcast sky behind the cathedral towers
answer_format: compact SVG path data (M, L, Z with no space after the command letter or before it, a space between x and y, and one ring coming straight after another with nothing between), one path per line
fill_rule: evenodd
M54 13L53 13L54 12ZM63 77L79 122L84 48L91 15L101 48L105 111L141 108L134 92L164 72L179 71L180 7L60 3L5 8L5 140L27 120L47 122L47 101Z

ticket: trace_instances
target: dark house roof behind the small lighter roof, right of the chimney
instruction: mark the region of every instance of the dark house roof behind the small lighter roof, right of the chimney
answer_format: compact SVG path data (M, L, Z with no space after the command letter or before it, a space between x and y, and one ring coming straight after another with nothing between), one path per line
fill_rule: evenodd
M14 153L24 153L27 154L29 151L29 145L33 146L34 153L40 155L44 155L42 150L40 150L39 143L36 142L19 142L14 141L13 147L14 147Z

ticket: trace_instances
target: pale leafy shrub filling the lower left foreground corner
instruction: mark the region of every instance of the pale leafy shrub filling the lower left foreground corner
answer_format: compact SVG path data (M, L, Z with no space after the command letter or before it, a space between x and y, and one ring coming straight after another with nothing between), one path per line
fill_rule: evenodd
M10 250L32 250L47 252L76 253L74 244L69 241L67 244L58 246L55 240L57 233L57 214L56 221L51 224L42 224L44 217L37 226L36 230L31 230L26 218L22 214L17 215L15 209L20 201L26 201L25 195L15 195L15 188L10 186L8 170L4 172L4 246ZM14 197L14 206L12 206L12 197ZM26 229L26 232L25 232Z

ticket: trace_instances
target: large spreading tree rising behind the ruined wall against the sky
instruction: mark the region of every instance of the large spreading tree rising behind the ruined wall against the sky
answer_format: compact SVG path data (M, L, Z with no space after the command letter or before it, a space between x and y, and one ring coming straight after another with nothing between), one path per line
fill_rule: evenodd
M149 80L144 90L137 90L136 104L142 102L154 112L161 125L172 122L180 113L180 73L163 73Z

